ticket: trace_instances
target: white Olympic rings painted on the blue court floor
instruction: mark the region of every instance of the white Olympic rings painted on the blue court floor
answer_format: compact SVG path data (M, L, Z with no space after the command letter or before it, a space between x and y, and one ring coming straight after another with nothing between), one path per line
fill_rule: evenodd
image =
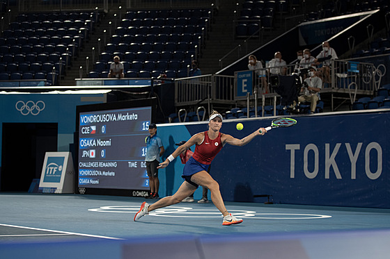
M111 212L111 213L136 213L139 206L102 206L100 208L91 208L88 211L92 212ZM245 219L326 219L329 215L316 214L297 214L297 213L258 213L252 210L229 210L235 217ZM194 210L191 207L169 206L168 208L160 208L149 212L150 216L155 217L202 217L212 218L221 217L221 212L216 209L200 209Z

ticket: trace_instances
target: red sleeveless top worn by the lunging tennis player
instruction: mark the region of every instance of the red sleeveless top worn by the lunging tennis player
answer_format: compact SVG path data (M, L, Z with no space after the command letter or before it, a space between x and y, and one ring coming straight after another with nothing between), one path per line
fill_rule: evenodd
M204 165L210 165L221 149L221 133L218 134L218 137L215 140L210 140L208 131L205 131L205 139L201 144L196 145L192 158Z

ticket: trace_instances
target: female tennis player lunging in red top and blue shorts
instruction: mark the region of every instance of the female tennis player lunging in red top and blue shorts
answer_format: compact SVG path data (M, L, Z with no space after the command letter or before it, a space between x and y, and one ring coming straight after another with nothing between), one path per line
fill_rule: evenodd
M182 151L185 151L185 149L196 144L192 158L189 158L183 169L182 178L184 178L185 181L179 187L179 190L173 194L173 196L164 197L151 205L143 202L139 212L134 216L134 222L144 215L147 215L148 212L152 210L180 203L180 201L189 197L190 194L193 194L199 185L210 190L212 202L224 216L222 225L228 226L231 224L240 224L242 222L242 219L235 218L226 210L224 200L221 197L221 192L219 192L219 184L210 176L210 174L208 174L208 167L225 144L244 146L251 142L257 135L264 135L267 131L265 128L259 128L257 131L251 133L251 135L239 140L231 135L220 133L219 130L221 129L221 126L222 116L217 111L212 111L209 118L208 131L193 135L185 144L182 144L166 158L164 162L159 164L159 167L157 168L167 167L169 162L172 162L177 158Z

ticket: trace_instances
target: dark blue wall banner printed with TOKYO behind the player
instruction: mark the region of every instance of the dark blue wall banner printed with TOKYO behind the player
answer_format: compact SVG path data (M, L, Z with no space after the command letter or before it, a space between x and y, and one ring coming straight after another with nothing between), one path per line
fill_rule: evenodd
M226 201L265 202L265 197L254 197L264 194L276 203L390 208L390 112L292 118L297 125L274 128L244 147L226 144L216 156L210 174ZM271 121L225 120L221 132L241 139ZM242 131L235 128L238 122L244 124ZM186 128L194 135L206 126ZM172 135L175 128L159 131L179 142ZM178 164L173 192L182 183ZM200 199L201 190L196 194Z

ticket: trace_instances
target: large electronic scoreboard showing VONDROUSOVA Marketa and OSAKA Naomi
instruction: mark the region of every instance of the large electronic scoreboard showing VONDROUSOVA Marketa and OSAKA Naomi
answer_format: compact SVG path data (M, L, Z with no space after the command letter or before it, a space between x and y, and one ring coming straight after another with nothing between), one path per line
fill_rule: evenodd
M79 188L149 190L145 140L153 107L135 103L77 107Z

